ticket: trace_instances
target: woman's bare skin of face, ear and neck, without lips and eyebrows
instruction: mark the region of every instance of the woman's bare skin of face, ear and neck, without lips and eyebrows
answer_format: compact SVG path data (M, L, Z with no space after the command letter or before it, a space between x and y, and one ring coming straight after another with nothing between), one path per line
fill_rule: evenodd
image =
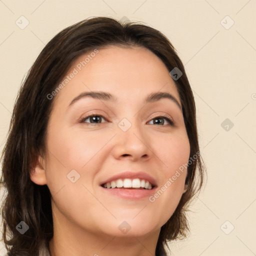
M87 54L76 59L67 74ZM68 107L74 97L90 90L114 94L117 102L86 97ZM102 192L99 183L129 169L150 174L160 188L188 161L189 141L177 104L167 98L143 102L157 91L172 94L181 105L174 81L156 55L142 47L108 46L52 99L47 152L38 156L30 174L34 183L47 184L52 195L51 256L155 255L160 227L185 191L186 169L154 202ZM101 121L79 122L90 114L101 115ZM163 114L175 125L156 118ZM125 132L117 125L123 118L131 123ZM80 175L74 183L66 177L72 169ZM123 221L131 227L125 234L118 228Z

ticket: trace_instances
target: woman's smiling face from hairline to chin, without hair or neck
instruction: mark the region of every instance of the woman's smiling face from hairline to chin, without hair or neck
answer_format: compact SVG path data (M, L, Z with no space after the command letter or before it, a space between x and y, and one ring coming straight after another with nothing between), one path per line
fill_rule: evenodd
M187 170L177 170L189 159L177 89L163 62L145 48L92 52L73 63L52 93L43 164L52 210L88 232L158 232L183 193ZM112 96L82 96L92 91ZM171 96L146 100L162 92ZM151 189L141 188L146 181Z

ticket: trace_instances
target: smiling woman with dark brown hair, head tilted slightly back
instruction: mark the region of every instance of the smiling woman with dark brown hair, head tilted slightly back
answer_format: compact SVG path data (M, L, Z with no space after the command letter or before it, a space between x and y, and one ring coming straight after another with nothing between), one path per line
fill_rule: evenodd
M21 86L2 157L8 255L167 255L204 172L174 47L109 17L63 29Z

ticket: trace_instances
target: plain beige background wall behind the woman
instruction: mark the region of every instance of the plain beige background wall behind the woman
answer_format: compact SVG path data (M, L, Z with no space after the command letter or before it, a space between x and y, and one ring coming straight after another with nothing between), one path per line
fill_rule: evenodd
M185 64L208 172L172 255L256 255L256 0L0 0L0 11L0 151L20 82L57 32L89 16L144 21Z

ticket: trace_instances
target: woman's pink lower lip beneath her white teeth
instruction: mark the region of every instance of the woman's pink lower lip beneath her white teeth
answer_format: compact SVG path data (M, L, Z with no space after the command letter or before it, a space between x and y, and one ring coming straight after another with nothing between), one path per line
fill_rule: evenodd
M128 189L128 188L104 188L100 186L104 191L109 192L115 196L119 196L126 199L142 199L149 197L155 193L156 187L152 189Z

